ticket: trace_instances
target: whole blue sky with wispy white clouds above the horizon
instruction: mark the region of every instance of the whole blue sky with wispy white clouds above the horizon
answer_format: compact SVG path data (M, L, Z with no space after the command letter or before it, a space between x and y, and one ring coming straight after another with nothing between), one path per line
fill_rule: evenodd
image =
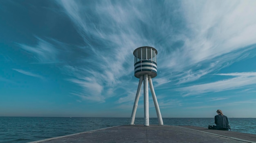
M256 117L256 1L1 0L0 116L130 117L157 49L162 117ZM156 117L151 93L149 114ZM144 117L143 86L136 117Z

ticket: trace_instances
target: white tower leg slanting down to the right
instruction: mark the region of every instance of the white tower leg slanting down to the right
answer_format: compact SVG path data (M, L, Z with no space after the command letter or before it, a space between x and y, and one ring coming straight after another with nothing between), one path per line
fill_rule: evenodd
M153 98L153 101L154 101L154 104L155 104L155 110L157 112L158 124L159 125L164 125L162 115L161 115L161 112L160 112L160 109L159 109L159 105L158 105L158 102L157 102L157 97L155 95L155 90L154 90L154 87L153 87L153 82L152 82L151 76L148 76L148 81L149 81L150 91L152 93L152 98Z

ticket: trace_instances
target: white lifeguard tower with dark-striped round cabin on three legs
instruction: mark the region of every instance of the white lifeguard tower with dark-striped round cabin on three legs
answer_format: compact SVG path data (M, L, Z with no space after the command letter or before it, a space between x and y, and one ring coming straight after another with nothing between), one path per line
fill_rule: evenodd
M149 126L149 106L148 106L148 82L152 98L157 112L158 124L164 125L162 115L155 95L152 78L157 76L157 50L153 47L139 47L134 50L134 76L139 78L139 85L132 109L130 125L134 125L135 114L139 102L142 81L144 81L144 126Z

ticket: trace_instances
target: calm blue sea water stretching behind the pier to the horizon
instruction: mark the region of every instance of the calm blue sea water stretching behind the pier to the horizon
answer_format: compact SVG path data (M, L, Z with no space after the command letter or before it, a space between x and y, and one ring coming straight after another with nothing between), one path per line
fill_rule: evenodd
M150 118L150 124L158 124ZM215 125L214 118L163 118L164 125ZM0 143L27 143L52 137L130 124L130 118L0 117ZM144 118L135 118L144 124ZM256 134L256 118L229 118L231 130Z

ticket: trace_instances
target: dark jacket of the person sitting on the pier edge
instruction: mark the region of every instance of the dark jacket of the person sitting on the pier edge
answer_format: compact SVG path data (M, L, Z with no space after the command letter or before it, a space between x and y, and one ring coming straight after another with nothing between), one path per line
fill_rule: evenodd
M229 120L225 115L216 115L214 117L217 130L229 130Z

